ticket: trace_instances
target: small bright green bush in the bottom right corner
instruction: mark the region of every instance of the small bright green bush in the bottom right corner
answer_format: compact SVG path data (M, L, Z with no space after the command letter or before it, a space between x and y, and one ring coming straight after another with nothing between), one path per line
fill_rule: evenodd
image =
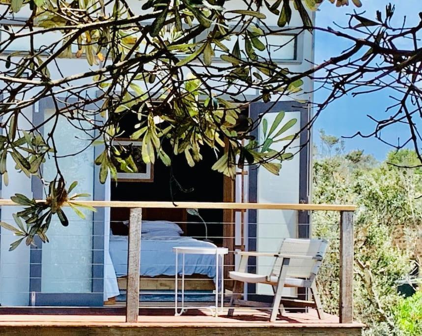
M394 320L405 335L422 335L422 291L400 300L394 307Z

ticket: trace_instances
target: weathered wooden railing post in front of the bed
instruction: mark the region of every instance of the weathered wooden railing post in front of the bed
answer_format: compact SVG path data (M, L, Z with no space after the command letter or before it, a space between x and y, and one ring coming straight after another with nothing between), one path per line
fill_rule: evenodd
M138 322L142 209L132 208L129 219L126 322Z

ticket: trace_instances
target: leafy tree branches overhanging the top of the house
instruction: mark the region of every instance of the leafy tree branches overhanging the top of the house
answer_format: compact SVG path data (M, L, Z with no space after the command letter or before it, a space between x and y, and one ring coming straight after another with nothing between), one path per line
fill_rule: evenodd
M349 4L330 1L337 6ZM174 155L184 155L193 166L201 160L200 149L208 146L218 152L213 168L226 175L233 176L236 165L262 165L278 174L282 161L294 154L286 151L299 133L291 134L293 123L282 120L273 130L277 136L253 139L250 131L264 122L266 112L250 120L245 109L254 101L269 102L270 107L271 102L287 98L304 98L303 102L313 104L311 92L298 95L306 80L328 88L329 94L324 102L314 104L315 115L301 131L309 131L321 111L344 94L393 87L401 95L401 103L392 106L397 112L377 121L371 135L382 140L381 129L405 123L410 132L405 144L412 142L421 157L420 135L412 118L421 113L417 83L422 20L415 27L394 27L394 6L387 5L376 19L355 13L347 27L315 27L309 13L321 2L239 0L232 8L225 0L1 0L0 174L4 183L8 183L7 162L12 160L28 177L41 179L46 195L54 195L45 202L47 209L56 205L60 209L69 201L59 161L75 153L60 153L56 146L62 118L86 134L86 148L104 147L95 159L101 182L108 176L115 178L116 161L121 169L136 171L131 153L113 142L123 134L121 121L128 114L138 118L128 136L142 141L145 163L160 159L170 165ZM360 0L352 2L356 8L362 5ZM292 27L295 15L302 24ZM269 17L277 19L277 27L267 24ZM343 38L352 47L321 64L309 63L303 71L292 71L273 59L271 35L315 31ZM413 44L399 49L396 44L402 40ZM7 53L19 44L25 44L25 50ZM68 68L66 58L86 62L79 63L78 69ZM251 91L253 99L247 96ZM35 123L25 111L43 99L53 101L54 113L49 120ZM44 134L47 122L53 125ZM283 148L273 150L272 144L281 139ZM163 143L169 143L171 150L165 151ZM52 181L45 181L40 169L46 159L56 165ZM29 244L34 235L45 234L48 216L26 204L26 199L17 199L31 208L19 215L31 223L25 233ZM60 219L66 223L66 218Z

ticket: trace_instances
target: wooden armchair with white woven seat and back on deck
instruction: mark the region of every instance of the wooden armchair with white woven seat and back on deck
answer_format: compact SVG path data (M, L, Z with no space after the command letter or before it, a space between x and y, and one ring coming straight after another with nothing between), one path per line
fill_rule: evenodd
M278 253L260 252L235 252L241 256L239 270L229 272L229 277L234 280L233 294L230 306L247 305L253 307L271 307L270 321L274 322L277 312L283 313L281 304L281 292L283 287L304 287L309 288L313 301L304 300L283 300L292 305L316 307L318 317L324 318L321 301L316 290L316 275L321 266L328 241L324 239L292 239L286 238L281 242ZM269 275L247 273L248 258L250 256L275 257L274 266ZM241 282L265 283L273 287L273 304L256 303L240 300ZM233 315L234 308L228 310L228 316Z

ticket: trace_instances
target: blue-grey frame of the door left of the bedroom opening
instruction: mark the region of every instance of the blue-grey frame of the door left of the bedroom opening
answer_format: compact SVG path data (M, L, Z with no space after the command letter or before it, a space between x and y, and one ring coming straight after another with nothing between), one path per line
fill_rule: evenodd
M76 99L67 98L68 102ZM63 104L57 102L57 104ZM37 125L44 121L44 111L55 108L53 98L43 98L35 105L32 122ZM89 108L89 106L88 106ZM92 106L92 108L95 108ZM40 127L43 131L43 127ZM104 146L94 147L94 158L104 150ZM99 166L94 164L94 176L99 176ZM35 199L43 199L43 185L38 178L31 178L32 193ZM106 185L99 179L94 179L93 200L104 201ZM92 217L92 265L91 265L91 293L42 293L42 242L36 237L35 245L30 248L29 261L29 305L35 306L102 306L104 304L104 224L105 208L98 208ZM98 224L97 224L98 223Z

